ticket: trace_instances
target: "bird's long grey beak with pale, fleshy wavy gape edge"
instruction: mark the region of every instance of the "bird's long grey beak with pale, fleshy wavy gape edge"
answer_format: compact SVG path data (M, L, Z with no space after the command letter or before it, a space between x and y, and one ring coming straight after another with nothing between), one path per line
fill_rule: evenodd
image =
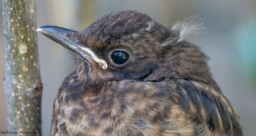
M104 61L103 59L99 59L92 50L84 47L83 45L80 45L77 42L76 36L74 35L78 33L77 31L57 26L42 26L36 29L36 31L40 31L42 34L44 34L54 42L57 42L63 47L72 50L73 52L76 52L84 58L88 57L89 55L94 61L102 66L103 70L106 70L108 68L108 64L106 63L106 61Z

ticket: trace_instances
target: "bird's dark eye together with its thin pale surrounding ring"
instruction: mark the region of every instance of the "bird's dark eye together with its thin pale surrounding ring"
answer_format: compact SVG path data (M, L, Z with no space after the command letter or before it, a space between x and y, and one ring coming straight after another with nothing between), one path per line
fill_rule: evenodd
M109 60L114 66L124 66L130 59L129 52L124 49L115 49L109 53Z

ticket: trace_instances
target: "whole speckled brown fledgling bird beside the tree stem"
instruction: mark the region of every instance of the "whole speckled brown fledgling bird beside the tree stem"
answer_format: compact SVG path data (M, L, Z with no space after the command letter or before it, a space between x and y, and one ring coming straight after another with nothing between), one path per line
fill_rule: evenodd
M169 28L129 10L83 31L39 27L77 64L54 100L51 135L243 135L209 57L186 40L201 24L192 18Z

